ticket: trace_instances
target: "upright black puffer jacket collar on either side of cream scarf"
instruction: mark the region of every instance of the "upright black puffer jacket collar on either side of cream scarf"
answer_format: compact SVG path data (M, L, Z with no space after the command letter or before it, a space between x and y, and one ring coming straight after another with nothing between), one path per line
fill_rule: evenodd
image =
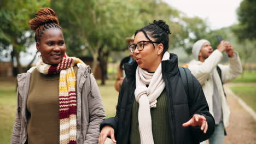
M174 53L170 53L170 58L166 61L162 61L162 74L171 74L175 75L178 72L178 56ZM131 63L126 63L124 65L125 75L126 77L135 79L136 69L138 64L136 61L132 61Z

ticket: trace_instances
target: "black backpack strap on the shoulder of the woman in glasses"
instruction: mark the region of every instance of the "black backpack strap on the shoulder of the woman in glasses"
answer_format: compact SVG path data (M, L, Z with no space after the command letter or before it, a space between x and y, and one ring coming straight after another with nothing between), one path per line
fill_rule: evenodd
M189 94L193 94L193 78L190 70L188 68L179 67L179 74L181 75L182 83L186 94L188 96Z

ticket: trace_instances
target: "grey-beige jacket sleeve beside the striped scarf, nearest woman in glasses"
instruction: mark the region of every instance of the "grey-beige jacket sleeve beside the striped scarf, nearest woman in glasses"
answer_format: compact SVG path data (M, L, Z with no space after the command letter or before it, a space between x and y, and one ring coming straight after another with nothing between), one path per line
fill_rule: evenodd
M98 136L100 134L98 129L100 128L100 123L104 120L106 115L96 80L92 74L90 74L88 79L91 83L90 93L88 94L89 126L84 143L97 143Z

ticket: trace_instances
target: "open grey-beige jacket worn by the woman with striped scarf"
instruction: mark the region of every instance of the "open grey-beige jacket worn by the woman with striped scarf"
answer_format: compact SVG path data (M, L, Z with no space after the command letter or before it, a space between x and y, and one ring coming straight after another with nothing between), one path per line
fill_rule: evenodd
M30 74L22 73L18 79L18 108L11 135L11 143L24 144L27 140L26 102L30 88ZM98 143L100 123L106 117L101 94L89 66L78 64L77 71L77 143Z

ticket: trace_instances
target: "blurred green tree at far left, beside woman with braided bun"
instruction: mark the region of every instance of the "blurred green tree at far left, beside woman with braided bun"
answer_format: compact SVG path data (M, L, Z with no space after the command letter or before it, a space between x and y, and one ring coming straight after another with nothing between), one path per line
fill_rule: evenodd
M17 64L17 73L22 73L20 52L33 43L33 34L28 21L47 1L4 0L0 3L0 51L12 47L11 61ZM15 58L14 58L15 57Z

